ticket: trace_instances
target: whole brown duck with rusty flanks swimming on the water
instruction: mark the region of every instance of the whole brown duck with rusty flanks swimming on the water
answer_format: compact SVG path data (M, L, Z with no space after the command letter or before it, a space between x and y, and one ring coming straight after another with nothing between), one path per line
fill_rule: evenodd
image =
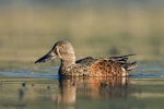
M86 57L75 60L73 46L67 40L57 41L44 57L35 63L46 62L51 59L59 59L61 64L58 73L60 76L129 76L132 69L137 66L137 61L128 62L130 56L94 58Z

